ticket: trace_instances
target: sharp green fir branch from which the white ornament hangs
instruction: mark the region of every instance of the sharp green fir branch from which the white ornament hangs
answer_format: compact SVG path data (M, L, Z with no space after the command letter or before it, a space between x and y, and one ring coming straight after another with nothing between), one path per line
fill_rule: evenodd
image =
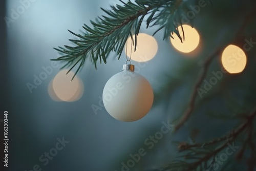
M146 27L158 26L156 32L164 28L163 38L172 37L172 34L175 33L182 41L178 31L178 24L181 24L181 7L184 4L181 0L136 0L135 3L129 1L127 3L122 2L122 4L123 6L111 6L112 10L101 8L106 15L96 18L95 21L91 20L92 27L84 24L85 32L82 35L69 30L78 38L70 39L75 46L54 48L62 56L52 60L65 61L65 67L72 66L68 72L80 62L77 73L88 57L96 69L98 59L100 63L102 61L106 63L112 51L117 53L119 59L125 42L132 35L132 32L134 32L136 40L145 17L147 17Z

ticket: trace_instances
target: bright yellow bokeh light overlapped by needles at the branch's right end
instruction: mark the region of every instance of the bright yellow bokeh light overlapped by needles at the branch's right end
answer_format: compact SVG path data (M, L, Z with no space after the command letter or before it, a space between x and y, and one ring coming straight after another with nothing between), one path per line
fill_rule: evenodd
M185 40L183 37L183 32L181 26L178 27L180 36L182 37L183 42L181 42L180 38L174 33L172 37L170 37L170 42L172 42L172 45L175 49L177 49L180 52L189 53L194 51L200 41L200 35L198 34L197 30L195 28L192 28L189 25L182 25L184 34L185 34Z

